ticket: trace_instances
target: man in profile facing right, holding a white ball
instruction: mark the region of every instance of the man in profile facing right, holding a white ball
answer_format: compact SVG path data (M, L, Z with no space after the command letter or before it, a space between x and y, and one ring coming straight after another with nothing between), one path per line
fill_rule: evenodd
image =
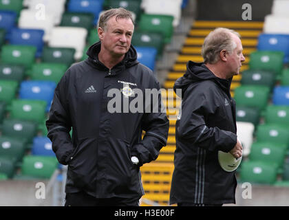
M182 111L175 124L175 170L170 203L222 206L235 203L235 171L218 162L218 151L242 156L237 141L235 100L230 87L245 58L239 34L217 28L204 40L204 63L189 61L174 89L182 89Z

